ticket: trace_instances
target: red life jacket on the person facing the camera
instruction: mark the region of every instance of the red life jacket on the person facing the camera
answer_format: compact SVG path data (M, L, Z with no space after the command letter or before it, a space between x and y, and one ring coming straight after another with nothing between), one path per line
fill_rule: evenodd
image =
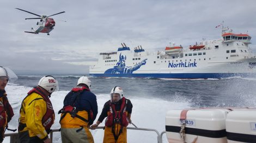
M123 97L120 111L115 110L115 105L109 102L109 113L105 122L105 126L112 127L114 124L120 124L123 127L129 125L129 120L126 113L126 99Z

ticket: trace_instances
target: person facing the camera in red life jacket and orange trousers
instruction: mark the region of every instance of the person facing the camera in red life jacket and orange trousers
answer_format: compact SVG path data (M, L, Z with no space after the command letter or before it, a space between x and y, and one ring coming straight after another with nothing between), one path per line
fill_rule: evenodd
M107 117L103 143L126 143L126 127L131 124L132 103L123 97L121 87L114 87L110 95L111 100L105 103L99 119L91 128L95 129Z

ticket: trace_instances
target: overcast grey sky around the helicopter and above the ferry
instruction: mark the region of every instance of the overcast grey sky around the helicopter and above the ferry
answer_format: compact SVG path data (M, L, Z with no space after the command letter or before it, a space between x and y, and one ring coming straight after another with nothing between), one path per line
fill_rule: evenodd
M50 35L28 34L38 15L64 14ZM252 36L256 53L256 1L28 1L0 2L0 66L16 74L88 74L101 52L116 51L120 43L142 46L147 51L164 50L169 43L183 47L221 38L224 25L234 33ZM66 21L66 22L64 22Z

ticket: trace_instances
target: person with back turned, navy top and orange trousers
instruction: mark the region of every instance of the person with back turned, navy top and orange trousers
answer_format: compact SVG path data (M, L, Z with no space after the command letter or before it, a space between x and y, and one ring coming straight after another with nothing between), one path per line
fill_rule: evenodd
M62 142L94 142L88 127L97 116L97 99L90 91L91 81L82 76L77 86L72 88L64 99L59 111Z

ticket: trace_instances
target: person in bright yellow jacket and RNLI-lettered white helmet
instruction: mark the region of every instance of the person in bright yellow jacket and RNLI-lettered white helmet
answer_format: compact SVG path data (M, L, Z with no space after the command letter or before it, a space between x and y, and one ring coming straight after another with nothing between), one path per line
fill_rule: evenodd
M51 131L55 115L49 97L56 90L58 81L53 76L44 76L23 99L18 128L21 143L51 142L47 134Z

